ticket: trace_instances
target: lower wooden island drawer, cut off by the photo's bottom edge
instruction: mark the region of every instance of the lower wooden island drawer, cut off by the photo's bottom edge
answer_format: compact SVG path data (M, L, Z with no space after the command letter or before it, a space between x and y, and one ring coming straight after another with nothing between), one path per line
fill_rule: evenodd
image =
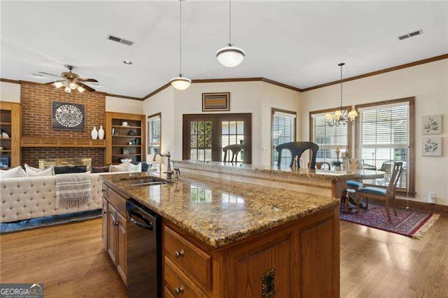
M170 295L166 295L169 292ZM182 270L165 257L165 297L207 297Z

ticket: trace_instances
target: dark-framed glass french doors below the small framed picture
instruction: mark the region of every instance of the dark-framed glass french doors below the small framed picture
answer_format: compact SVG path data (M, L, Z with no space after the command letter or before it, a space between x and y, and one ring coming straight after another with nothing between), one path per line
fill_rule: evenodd
M183 159L216 161L224 159L223 148L244 144L237 162L252 162L252 114L183 115Z

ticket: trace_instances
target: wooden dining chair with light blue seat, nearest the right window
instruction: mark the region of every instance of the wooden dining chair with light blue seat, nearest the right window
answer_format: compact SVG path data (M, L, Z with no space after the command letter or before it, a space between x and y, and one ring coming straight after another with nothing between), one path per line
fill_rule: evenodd
M386 201L386 213L387 218L390 221L391 215L389 213L389 203L392 202L393 214L397 216L397 211L395 208L395 188L397 187L398 179L400 178L403 168L402 162L395 162L393 164L393 171L391 174L391 180L389 180L389 185L386 189L380 187L361 187L356 190L356 206L359 209L359 201L361 198L365 198L365 208L368 207L368 199L384 199Z

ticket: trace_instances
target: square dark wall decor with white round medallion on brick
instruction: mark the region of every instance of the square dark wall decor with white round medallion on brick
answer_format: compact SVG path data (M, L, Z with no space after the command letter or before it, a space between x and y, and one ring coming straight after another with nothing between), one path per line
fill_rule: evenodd
M52 128L84 130L85 107L83 104L52 102Z

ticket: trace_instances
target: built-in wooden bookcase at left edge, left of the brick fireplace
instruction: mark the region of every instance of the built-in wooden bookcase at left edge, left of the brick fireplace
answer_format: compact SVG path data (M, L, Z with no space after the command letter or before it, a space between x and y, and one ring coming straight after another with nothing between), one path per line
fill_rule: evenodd
M20 104L0 101L0 169L20 166Z

